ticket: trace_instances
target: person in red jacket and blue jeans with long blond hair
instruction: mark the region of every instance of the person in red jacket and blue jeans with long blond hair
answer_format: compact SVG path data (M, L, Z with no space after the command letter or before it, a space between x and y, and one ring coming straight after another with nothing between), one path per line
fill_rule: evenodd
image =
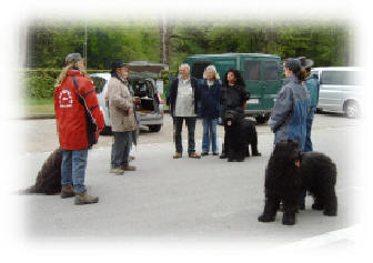
M97 203L99 198L87 194L84 185L88 149L84 107L79 103L79 93L84 98L99 131L103 129L103 114L99 107L93 82L85 73L84 60L79 53L65 58L67 67L57 80L54 110L60 145L63 150L61 164L61 198L75 196L75 204ZM73 185L73 186L72 186Z

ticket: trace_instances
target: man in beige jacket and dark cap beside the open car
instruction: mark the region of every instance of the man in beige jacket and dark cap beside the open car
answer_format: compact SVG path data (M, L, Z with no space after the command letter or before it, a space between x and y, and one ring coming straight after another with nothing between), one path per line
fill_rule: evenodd
M112 62L111 79L109 81L109 111L113 144L111 148L110 172L121 175L124 171L134 171L135 166L129 165L132 144L132 131L137 127L133 109L133 98L129 91L129 68L123 60Z

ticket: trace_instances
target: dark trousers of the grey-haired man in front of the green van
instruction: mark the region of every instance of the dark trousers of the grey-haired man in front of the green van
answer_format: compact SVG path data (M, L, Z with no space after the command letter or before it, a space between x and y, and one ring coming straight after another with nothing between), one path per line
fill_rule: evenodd
M181 141L181 131L182 124L185 120L188 127L188 154L195 152L195 141L194 141L194 131L195 131L195 117L173 117L173 134L177 152L182 153L182 141Z

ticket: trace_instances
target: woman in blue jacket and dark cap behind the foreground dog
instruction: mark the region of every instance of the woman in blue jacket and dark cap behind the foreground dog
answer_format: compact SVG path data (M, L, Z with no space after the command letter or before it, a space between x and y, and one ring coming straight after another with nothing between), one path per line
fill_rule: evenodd
M301 82L306 73L298 59L288 59L284 68L286 79L278 93L270 127L274 132L274 144L281 140L295 140L304 151L310 95Z

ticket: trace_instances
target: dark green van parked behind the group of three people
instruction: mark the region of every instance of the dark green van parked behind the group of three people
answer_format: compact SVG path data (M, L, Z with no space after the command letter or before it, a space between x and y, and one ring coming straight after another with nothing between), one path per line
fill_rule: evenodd
M279 55L262 53L194 54L183 63L191 67L191 75L202 80L204 69L213 64L221 79L230 68L238 69L245 81L251 97L245 114L265 123L274 105L274 99L282 85L282 62Z

